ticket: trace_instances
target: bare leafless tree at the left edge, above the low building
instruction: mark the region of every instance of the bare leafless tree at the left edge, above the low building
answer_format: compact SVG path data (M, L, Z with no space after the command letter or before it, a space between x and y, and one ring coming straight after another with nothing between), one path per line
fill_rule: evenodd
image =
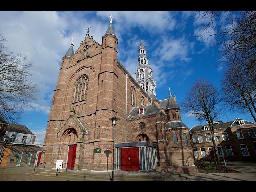
M15 122L22 108L30 106L36 96L26 56L7 51L6 38L0 34L0 116Z

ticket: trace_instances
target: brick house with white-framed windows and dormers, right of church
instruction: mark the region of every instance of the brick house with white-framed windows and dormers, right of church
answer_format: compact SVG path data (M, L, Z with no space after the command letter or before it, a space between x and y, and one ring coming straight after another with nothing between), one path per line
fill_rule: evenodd
M214 140L220 160L255 160L256 159L256 124L240 118L228 122L214 122ZM202 160L214 159L211 131L208 124L193 126L190 137L194 157ZM220 136L220 141L218 137ZM220 146L221 145L221 146Z

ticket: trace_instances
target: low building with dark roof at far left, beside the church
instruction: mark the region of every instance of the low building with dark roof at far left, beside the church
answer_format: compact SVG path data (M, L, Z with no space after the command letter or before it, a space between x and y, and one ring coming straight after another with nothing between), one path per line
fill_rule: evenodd
M0 130L0 168L34 166L42 147L34 144L36 136L26 126L8 123L1 117Z

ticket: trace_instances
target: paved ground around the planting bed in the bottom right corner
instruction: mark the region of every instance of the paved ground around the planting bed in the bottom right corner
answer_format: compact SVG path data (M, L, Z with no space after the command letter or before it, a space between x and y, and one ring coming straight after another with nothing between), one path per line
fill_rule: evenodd
M241 173L198 173L190 175L187 181L256 181L256 162L228 162L229 168Z

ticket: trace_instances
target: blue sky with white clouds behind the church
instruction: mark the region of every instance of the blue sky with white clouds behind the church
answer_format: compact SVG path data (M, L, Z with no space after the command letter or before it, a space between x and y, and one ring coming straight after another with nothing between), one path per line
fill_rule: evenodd
M225 68L218 63L218 47L209 45L214 39L202 42L192 37L207 20L196 20L188 11L25 11L0 12L0 32L8 39L13 52L26 54L33 62L32 78L38 86L34 108L24 108L19 123L26 125L42 143L47 126L53 90L61 58L75 34L74 51L84 40L86 28L100 42L109 25L110 13L118 42L118 60L135 77L138 67L140 36L146 47L149 64L156 80L158 100L168 98L168 88L176 94L178 104L196 79L204 77L220 88ZM182 111L181 111L182 113ZM189 127L200 124L191 114L182 113ZM222 121L243 118L253 122L250 114L226 112Z

